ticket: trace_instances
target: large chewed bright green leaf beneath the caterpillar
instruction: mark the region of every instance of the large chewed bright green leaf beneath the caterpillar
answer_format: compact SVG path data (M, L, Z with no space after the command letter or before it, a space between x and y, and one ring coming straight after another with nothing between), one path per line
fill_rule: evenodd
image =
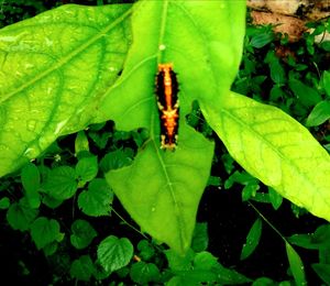
M133 45L121 79L100 106L120 130L147 128L150 140L131 166L107 179L125 209L155 239L184 252L207 184L213 144L185 117L193 100L221 102L239 67L245 22L243 1L140 1L132 15ZM157 64L178 74L178 147L160 150L154 95Z

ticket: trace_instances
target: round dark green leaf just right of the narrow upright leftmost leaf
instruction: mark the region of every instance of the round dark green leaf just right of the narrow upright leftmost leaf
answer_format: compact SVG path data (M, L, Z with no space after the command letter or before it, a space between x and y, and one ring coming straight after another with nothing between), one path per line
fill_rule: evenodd
M73 197L77 187L75 169L69 166L52 169L42 186L45 193L58 200Z

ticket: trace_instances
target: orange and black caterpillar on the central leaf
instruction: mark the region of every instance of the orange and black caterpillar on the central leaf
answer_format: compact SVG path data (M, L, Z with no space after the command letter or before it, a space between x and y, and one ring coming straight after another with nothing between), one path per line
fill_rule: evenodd
M160 64L156 76L156 95L161 121L161 148L174 150L177 145L179 120L178 82L172 64Z

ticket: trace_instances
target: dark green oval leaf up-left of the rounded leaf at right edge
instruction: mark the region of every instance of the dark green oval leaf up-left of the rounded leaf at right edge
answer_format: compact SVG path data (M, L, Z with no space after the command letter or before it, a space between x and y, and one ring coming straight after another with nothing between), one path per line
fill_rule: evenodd
M312 107L322 100L321 96L315 88L306 86L298 79L290 78L288 85L295 96L306 107Z

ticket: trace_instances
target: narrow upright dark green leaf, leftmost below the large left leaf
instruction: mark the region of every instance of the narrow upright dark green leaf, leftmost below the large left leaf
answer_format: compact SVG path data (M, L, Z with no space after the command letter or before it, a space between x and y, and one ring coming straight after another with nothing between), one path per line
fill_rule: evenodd
M40 173L37 167L29 163L21 172L22 185L25 189L26 199L32 208L37 209L41 204L40 194Z

